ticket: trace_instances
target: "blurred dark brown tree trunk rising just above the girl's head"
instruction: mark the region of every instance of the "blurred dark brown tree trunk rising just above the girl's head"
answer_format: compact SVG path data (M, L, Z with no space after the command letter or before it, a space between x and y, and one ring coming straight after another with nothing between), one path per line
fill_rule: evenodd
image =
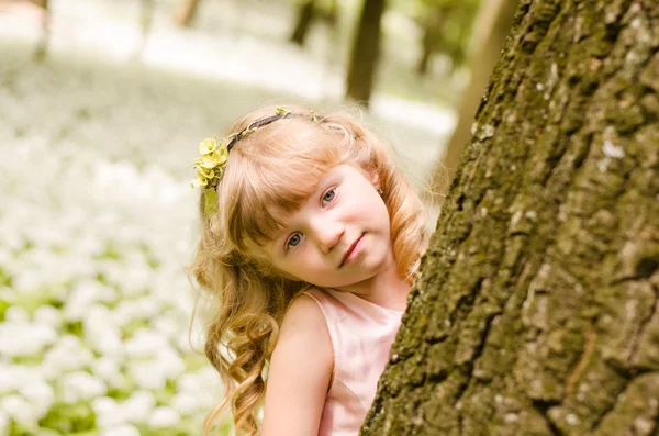
M348 68L346 98L368 108L380 55L384 0L365 0Z

